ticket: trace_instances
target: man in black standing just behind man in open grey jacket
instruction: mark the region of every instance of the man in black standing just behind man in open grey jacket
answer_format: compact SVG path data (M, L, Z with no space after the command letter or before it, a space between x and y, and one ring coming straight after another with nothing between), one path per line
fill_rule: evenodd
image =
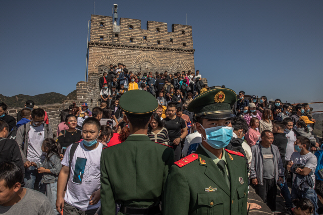
M285 156L286 156L286 147L288 144L288 139L286 137L286 134L284 133L284 129L285 129L285 125L282 122L279 122L279 121L273 122L273 134L274 134L273 145L278 147L279 153L281 155L282 163L285 167L287 166ZM281 189L281 195L285 199L285 207L292 208L293 203L291 199L291 193L287 186L288 175L286 170L284 171L284 176L285 176L284 183L278 183L278 186Z

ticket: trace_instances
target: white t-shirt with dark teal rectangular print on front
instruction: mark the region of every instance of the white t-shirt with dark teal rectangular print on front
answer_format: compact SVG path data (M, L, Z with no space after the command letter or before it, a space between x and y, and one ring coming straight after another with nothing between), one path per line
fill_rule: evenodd
M67 184L64 200L81 210L98 208L100 201L90 205L90 196L100 189L100 158L102 144L94 150L84 148L83 142L76 148L70 168L70 179ZM69 166L71 147L65 152L62 165Z

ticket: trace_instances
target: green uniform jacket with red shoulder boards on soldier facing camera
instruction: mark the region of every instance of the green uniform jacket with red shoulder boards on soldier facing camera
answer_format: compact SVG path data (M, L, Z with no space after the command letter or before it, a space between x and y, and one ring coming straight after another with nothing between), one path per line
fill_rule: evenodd
M184 166L173 165L165 185L164 214L247 214L246 162L234 152L225 151L225 158L231 192L218 166L201 147L195 154L178 161Z

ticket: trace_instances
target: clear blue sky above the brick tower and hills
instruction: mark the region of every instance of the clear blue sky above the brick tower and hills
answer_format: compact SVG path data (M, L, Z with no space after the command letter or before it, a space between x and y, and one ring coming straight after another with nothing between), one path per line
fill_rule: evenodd
M95 14L193 29L209 86L283 102L323 101L323 1L95 1ZM85 79L93 1L2 1L0 93L67 95ZM317 106L318 107L318 106ZM320 105L323 110L323 105Z

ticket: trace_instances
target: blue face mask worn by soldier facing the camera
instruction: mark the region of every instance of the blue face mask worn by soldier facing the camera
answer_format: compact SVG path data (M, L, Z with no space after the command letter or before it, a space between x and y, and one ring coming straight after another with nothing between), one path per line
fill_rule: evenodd
M233 127L218 126L203 129L205 130L206 134L206 139L202 135L204 141L214 149L225 148L226 146L228 146L230 140L232 139Z

